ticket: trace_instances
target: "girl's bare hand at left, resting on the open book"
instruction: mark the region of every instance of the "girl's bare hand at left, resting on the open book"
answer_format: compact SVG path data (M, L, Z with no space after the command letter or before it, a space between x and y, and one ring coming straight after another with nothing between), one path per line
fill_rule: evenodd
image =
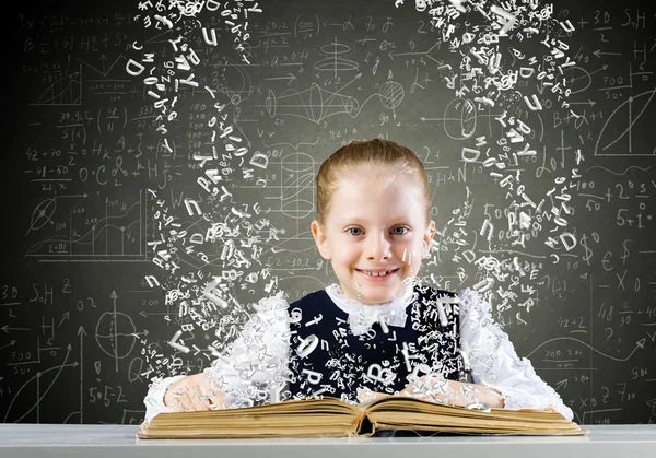
M190 375L172 384L164 404L176 412L225 409L225 394L204 374Z

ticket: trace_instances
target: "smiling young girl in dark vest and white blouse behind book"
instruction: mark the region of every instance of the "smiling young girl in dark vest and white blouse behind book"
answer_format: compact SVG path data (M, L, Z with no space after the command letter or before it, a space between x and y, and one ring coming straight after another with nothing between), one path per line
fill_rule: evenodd
M316 179L312 233L339 284L288 304L283 293L256 314L203 373L153 379L145 421L175 410L232 409L332 396L379 394L470 409L572 411L519 359L490 305L422 284L435 222L423 164L374 139L340 148Z

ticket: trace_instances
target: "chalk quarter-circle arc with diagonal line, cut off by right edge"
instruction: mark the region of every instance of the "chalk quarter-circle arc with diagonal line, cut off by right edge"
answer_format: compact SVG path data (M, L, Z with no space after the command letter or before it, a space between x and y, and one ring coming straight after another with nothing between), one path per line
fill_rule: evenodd
M631 95L608 116L595 143L595 156L656 155L656 145L651 136L653 131L652 122L656 116L656 113L653 113L654 106L652 104L654 94L656 94L656 87L635 96ZM649 108L648 111L647 108ZM639 121L641 122L640 127L636 126ZM618 130L608 129L607 131L609 126L619 129L620 133L618 134ZM635 141L634 131L647 132L648 137ZM647 150L647 152L634 152L634 143L641 145L641 151ZM613 153L613 151L620 152Z

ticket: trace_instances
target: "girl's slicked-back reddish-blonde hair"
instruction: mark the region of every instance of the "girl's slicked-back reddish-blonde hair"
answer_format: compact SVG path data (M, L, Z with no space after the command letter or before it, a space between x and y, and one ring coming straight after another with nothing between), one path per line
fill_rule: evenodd
M339 175L364 164L387 166L390 175L408 174L419 178L426 201L426 224L431 221L429 179L422 162L412 150L406 146L401 146L391 140L373 139L366 141L353 140L332 153L321 164L316 179L317 221L319 224L326 225L326 215L330 208L332 193L339 184Z

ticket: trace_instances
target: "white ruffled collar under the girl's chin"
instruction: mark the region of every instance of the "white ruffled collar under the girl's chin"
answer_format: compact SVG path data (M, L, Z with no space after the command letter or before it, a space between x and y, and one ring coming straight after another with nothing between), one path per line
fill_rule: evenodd
M405 327L408 318L406 308L417 295L413 286L412 282L406 283L398 297L372 305L347 297L337 283L327 286L326 293L341 310L349 315L349 326L353 336L360 336L368 332L374 322L379 322L383 332L386 333L388 326Z

